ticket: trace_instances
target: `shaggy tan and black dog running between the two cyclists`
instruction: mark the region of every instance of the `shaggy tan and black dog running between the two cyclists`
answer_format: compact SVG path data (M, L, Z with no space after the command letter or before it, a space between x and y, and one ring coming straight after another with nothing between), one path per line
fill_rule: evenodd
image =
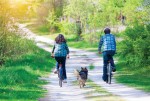
M88 79L88 69L86 67L81 67L80 71L75 69L74 74L77 77L80 88L83 88L85 86L87 79Z

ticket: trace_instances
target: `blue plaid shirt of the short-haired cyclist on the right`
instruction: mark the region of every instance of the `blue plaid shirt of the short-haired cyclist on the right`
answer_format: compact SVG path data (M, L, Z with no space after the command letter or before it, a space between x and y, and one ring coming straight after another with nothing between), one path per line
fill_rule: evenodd
M98 47L99 51L101 51L102 46L103 46L103 51L109 51L109 50L116 51L115 36L112 34L103 35L99 42L99 47Z

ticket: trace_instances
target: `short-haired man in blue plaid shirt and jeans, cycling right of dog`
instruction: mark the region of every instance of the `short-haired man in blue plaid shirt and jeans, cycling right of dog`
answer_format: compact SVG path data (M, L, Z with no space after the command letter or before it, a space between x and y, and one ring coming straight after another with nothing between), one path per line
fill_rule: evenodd
M115 72L115 64L113 60L113 56L116 53L116 40L115 36L110 34L110 29L106 28L104 30L105 35L100 38L98 51L99 54L103 53L103 76L102 79L107 82L107 64L108 61L111 63L112 71ZM103 46L103 52L101 52L101 48Z

